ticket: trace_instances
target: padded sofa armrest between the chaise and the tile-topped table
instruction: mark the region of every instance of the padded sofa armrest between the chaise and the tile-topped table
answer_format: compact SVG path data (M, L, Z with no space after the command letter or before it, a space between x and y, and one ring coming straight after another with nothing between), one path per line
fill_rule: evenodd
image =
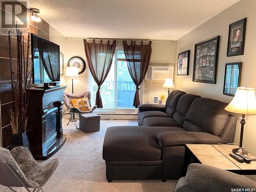
M161 146L181 145L181 144L217 144L221 138L205 132L162 132L157 135Z

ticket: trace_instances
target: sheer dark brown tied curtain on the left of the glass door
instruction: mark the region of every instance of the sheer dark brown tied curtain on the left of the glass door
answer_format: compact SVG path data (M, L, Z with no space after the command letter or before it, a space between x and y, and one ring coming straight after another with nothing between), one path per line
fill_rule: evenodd
M107 44L103 44L102 40L97 44L95 39L93 42L87 42L86 39L83 39L83 42L89 69L98 86L95 104L97 105L97 108L103 108L100 97L100 86L110 72L113 56L116 50L116 41L113 40L112 45L110 45L110 40L108 40Z

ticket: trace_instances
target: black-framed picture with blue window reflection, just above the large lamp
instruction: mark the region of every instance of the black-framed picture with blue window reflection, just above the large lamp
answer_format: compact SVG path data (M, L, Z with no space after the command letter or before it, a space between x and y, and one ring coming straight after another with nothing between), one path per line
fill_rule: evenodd
M240 86L242 62L231 62L225 65L223 94L234 96Z

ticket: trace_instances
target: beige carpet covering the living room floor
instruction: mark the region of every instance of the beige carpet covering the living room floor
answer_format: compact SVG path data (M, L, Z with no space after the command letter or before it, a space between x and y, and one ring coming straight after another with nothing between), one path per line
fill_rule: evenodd
M100 131L85 134L76 130L73 122L63 122L67 141L51 158L58 158L59 165L44 186L45 191L173 191L176 180L113 181L105 178L102 144L106 128L116 125L137 125L131 120L101 120ZM51 159L50 158L50 159ZM0 185L0 191L10 191ZM18 189L18 191L26 191Z

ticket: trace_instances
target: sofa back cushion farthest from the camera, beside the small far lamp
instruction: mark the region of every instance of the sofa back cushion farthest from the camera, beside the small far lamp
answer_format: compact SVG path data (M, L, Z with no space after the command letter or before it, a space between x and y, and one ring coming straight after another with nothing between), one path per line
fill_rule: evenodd
M170 92L166 99L166 113L169 117L173 118L179 98L184 94L185 92L180 90Z

